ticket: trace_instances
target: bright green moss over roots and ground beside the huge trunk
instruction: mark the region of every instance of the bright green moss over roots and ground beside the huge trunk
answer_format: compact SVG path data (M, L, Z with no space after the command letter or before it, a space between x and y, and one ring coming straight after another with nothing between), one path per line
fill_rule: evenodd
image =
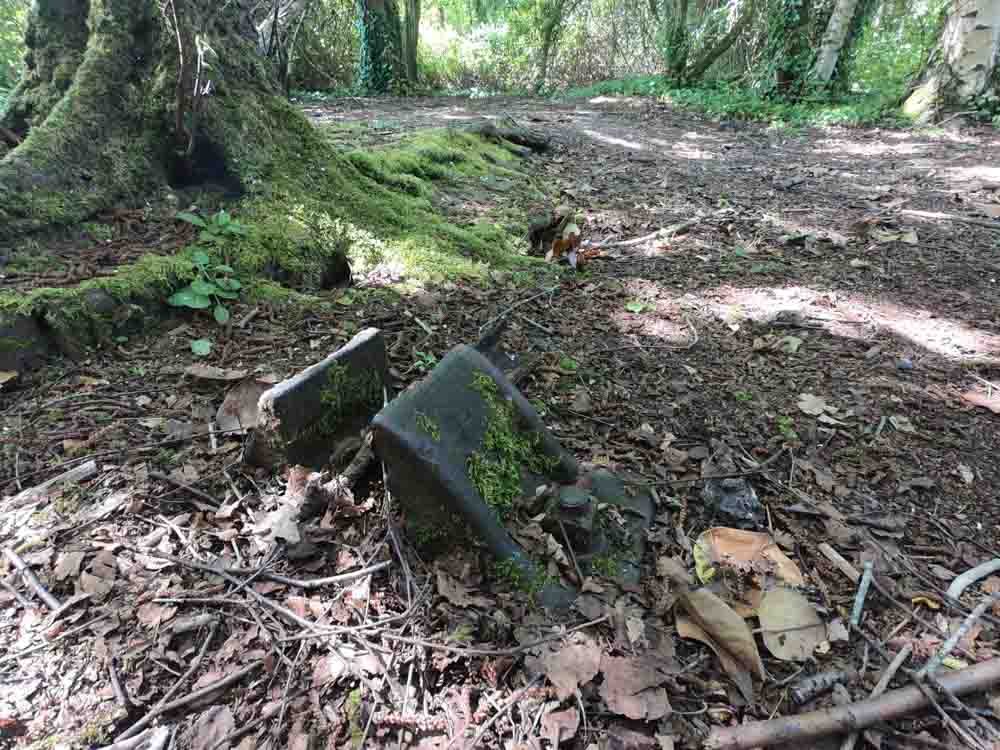
M530 186L518 157L507 149L441 129L417 132L390 148L344 151L335 134L315 128L284 102L259 115L272 124L285 120L282 129L293 137L287 147L274 149L276 156L267 163L242 162L248 194L230 210L250 232L213 250L218 262L235 269L244 301L314 302L309 295L320 290L325 269L342 255L355 276L381 267L405 284L475 282L491 269L525 280L548 272L526 254L523 239L527 204L537 204L544 194ZM505 190L489 215L443 213L443 203L478 196L498 181ZM93 222L73 229L90 237L110 232ZM39 237L22 244L23 250L11 248L12 257L43 262ZM113 276L75 287L0 293L0 314L42 314L57 329L91 343L105 333L107 322L95 318L87 304L95 292L148 310L194 274L190 249L147 254Z

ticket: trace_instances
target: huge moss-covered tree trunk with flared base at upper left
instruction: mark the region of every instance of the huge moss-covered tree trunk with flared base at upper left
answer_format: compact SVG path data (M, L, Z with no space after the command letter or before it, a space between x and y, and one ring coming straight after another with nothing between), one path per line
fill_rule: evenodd
M0 239L135 202L166 182L253 189L308 137L261 56L250 0L36 0L2 122Z

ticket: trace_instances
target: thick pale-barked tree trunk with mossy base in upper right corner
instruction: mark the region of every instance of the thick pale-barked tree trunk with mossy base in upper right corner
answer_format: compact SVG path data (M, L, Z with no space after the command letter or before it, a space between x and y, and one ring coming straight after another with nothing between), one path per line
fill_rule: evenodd
M904 114L927 122L946 108L996 96L998 55L1000 2L951 0L938 48L903 104Z

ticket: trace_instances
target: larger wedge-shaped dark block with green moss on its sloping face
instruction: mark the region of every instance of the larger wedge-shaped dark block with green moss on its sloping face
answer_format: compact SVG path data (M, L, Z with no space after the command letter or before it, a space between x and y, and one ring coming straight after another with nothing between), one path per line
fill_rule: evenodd
M577 463L486 357L455 347L373 425L375 450L415 541L454 543L471 531L498 561L527 576L538 572L504 520L536 486L574 481ZM541 599L559 597L543 591Z

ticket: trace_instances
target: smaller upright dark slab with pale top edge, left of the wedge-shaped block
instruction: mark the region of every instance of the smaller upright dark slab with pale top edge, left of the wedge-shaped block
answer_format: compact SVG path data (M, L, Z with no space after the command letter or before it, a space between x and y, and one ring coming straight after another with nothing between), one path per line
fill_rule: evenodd
M322 466L340 441L356 437L382 408L386 374L382 333L365 329L260 397L244 461L265 468Z

